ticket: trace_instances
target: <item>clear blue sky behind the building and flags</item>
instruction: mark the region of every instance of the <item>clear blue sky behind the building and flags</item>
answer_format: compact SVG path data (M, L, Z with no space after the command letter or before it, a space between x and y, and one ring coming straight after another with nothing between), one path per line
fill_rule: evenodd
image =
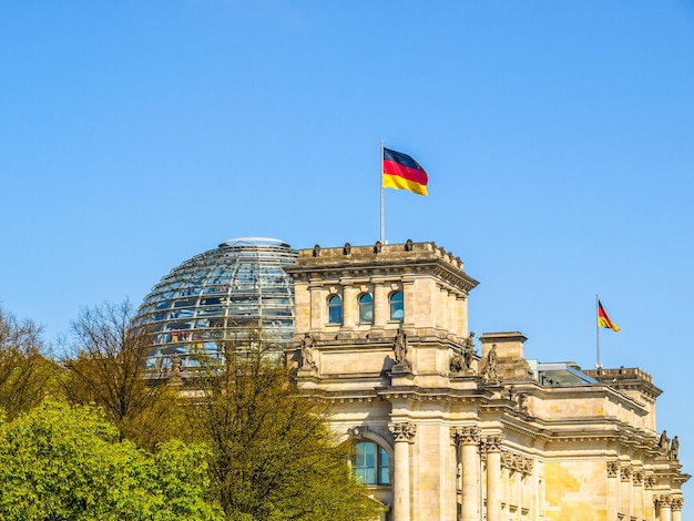
M388 242L528 358L594 367L600 294L694 473L692 1L0 0L0 304L52 341L228 238L372 244L381 140L430 177Z

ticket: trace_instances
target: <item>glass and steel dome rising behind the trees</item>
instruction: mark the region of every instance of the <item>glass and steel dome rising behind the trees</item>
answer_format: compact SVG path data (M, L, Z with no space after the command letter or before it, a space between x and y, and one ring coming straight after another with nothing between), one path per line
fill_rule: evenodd
M282 241L243 237L172 269L137 310L152 343L147 367L166 369L174 356L182 368L220 359L225 344L251 334L282 354L294 334L294 283L284 268L296 257Z

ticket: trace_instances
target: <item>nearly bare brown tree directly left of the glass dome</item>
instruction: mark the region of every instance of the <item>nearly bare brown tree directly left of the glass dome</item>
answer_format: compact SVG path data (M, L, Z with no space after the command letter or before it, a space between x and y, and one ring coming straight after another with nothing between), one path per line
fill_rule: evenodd
M127 300L83 309L72 324L62 381L71 402L96 403L122 437L153 450L157 442L180 438L184 423L176 389L147 378L151 345L134 315Z

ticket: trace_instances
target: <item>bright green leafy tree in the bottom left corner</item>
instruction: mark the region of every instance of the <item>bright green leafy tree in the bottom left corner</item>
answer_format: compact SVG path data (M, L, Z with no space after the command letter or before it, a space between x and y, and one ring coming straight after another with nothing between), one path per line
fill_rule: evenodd
M89 406L44 402L0 422L0 519L220 520L204 500L205 450L172 441L156 456L119 441Z

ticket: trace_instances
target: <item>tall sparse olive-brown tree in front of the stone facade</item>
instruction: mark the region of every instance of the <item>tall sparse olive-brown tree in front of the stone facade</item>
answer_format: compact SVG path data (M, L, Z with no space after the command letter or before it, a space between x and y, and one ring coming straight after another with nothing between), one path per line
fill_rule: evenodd
M326 407L299 396L261 341L243 344L225 346L223 366L204 366L188 408L227 519L377 518L348 469L349 450L326 427Z

